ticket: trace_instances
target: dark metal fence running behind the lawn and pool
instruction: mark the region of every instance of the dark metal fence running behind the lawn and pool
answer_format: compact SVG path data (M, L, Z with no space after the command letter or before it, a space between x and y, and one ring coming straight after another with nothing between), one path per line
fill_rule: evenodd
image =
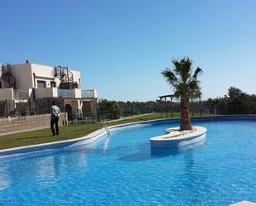
M38 100L36 103L13 101L0 101L0 117L19 117L26 115L36 115L50 113L51 99ZM64 103L57 103L60 106L60 111L65 112ZM98 110L95 113L83 113L83 111L76 111L75 113L68 113L70 122L95 122L99 120L114 120L123 117L133 117L147 113L158 113L161 118L178 117L181 112L180 103L171 102L127 102L118 103L118 113L113 113L110 110ZM207 101L196 101L188 103L191 117L208 116L208 115L241 115L241 114L256 114L256 103L249 103L243 105L209 104Z

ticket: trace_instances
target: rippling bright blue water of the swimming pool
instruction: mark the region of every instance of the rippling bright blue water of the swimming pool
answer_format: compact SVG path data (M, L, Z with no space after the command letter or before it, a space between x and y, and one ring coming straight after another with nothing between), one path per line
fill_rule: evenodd
M256 121L194 122L206 140L151 151L177 122L0 160L0 205L227 205L256 202Z

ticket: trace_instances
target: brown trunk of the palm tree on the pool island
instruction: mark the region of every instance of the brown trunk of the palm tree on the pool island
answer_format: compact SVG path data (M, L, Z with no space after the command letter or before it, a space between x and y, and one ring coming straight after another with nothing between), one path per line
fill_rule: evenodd
M191 117L187 108L186 99L181 99L181 131L191 129Z

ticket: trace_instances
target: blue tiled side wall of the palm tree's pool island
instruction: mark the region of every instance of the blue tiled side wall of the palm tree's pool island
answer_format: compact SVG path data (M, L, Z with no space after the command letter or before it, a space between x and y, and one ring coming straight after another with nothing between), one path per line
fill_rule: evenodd
M180 154L181 152L196 149L200 146L205 145L205 138L199 142L188 146L173 146L173 147L151 147L151 155L152 156L175 156Z

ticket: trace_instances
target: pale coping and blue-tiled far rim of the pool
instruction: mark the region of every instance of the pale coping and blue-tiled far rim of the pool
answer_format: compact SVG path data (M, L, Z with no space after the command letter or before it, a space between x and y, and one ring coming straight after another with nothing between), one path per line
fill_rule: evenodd
M239 119L256 119L256 115L228 115L228 116L209 116L209 117L191 117L191 121L193 120L201 120L201 121L215 121L215 120L239 120ZM126 127L136 124L147 124L147 123L153 123L153 122L166 122L166 121L178 121L180 118L165 118L165 119L154 119L154 120L147 120L147 121L139 121L139 122L130 122L130 123L123 123L118 124L114 126L109 126L109 129L118 128L118 127ZM97 136L100 134L105 135L107 134L105 128L101 128L99 130L96 130L94 132L89 133L88 135L84 137L78 137L75 139L70 140L64 140L64 141L52 141L42 144L36 144L31 146L18 146L13 147L9 149L3 149L0 150L0 158L5 156L12 156L12 155L18 155L18 154L26 154L27 152L32 151L44 151L47 149L53 149L53 148L61 148L65 146L70 146L78 141L89 141L89 140L96 140Z

